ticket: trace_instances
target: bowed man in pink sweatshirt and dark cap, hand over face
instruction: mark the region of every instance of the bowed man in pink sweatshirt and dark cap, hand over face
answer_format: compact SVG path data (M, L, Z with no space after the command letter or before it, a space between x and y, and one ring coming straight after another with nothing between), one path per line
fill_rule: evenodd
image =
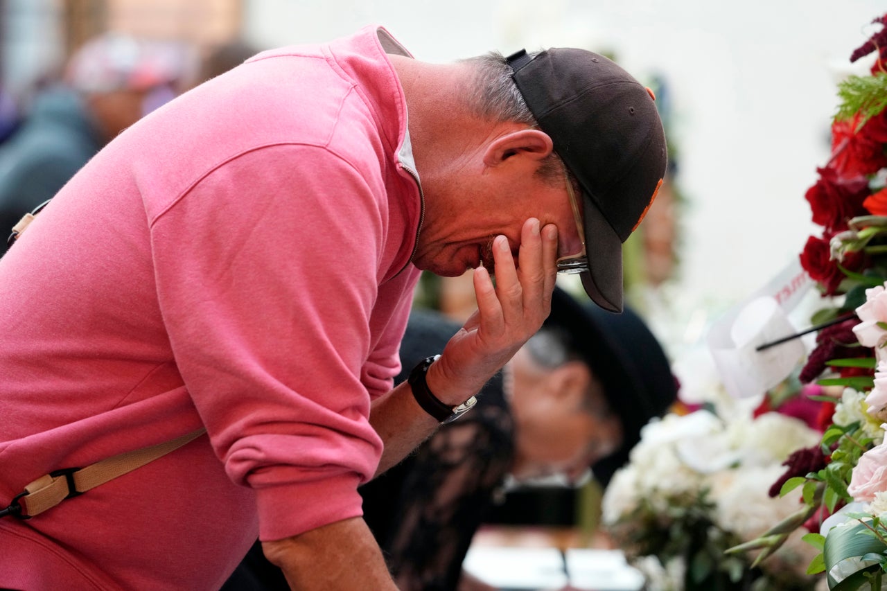
M664 169L605 58L428 64L376 27L148 115L0 258L0 587L213 589L258 535L294 588L394 588L357 486L470 407L559 269L621 310ZM470 267L477 313L391 390L420 270Z

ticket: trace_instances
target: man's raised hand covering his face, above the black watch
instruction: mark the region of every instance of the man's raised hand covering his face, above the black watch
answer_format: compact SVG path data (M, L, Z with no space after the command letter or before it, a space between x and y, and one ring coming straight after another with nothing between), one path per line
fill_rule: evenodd
M521 231L517 261L505 236L493 240L496 282L475 269L477 311L428 368L428 388L458 404L475 394L535 335L551 310L557 266L557 228L530 218Z

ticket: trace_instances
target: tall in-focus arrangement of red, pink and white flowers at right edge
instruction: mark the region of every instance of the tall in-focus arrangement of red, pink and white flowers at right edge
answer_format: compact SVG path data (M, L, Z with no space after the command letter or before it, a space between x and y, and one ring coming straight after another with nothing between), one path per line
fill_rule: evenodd
M800 379L830 394L820 401L831 422L817 445L792 453L771 491L800 490L796 514L731 549L761 549L757 566L807 531L820 550L808 572L824 572L832 591L887 588L887 15L874 23L880 30L851 61L875 53L875 63L839 85L832 154L806 193L822 235L801 264L825 305Z

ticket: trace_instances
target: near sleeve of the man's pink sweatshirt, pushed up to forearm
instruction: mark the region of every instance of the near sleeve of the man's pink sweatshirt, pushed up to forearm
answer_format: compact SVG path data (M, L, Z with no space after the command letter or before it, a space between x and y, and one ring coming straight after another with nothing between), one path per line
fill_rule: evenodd
M153 221L179 370L263 540L361 515L382 447L362 378L387 207L381 181L322 148L271 146Z

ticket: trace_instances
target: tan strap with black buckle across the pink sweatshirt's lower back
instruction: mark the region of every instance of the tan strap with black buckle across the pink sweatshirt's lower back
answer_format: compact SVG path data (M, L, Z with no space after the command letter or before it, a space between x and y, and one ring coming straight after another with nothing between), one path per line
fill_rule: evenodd
M25 486L25 492L12 500L9 508L12 510L9 510L8 514L21 519L40 515L63 500L86 493L98 485L104 485L109 480L157 460L206 432L207 429L198 429L170 441L120 453L85 468L61 469L45 474Z

